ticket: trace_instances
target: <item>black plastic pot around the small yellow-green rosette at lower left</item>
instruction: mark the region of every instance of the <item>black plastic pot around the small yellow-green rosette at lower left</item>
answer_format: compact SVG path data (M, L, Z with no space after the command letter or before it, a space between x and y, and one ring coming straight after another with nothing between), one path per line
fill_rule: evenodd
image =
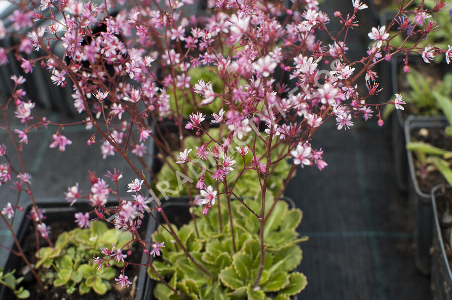
M109 201L108 203L111 204L111 206L114 206L116 204L116 201ZM68 205L68 203L66 203L66 202L63 203L61 201L61 199L38 201L37 204L39 207L45 209L46 223L50 223L53 221L67 220L67 222L74 224L74 228L76 227L75 222L74 222L74 214L79 211L85 212L85 211L89 211L92 209L92 207L89 206L89 204L87 202L84 202L84 203L77 202L72 207L70 207ZM25 236L29 233L29 228L32 224L32 221L26 217L26 215L29 213L31 208L32 208L32 205L31 205L31 203L29 203L27 206L25 206L24 213L22 214L22 218L16 220L16 221L20 221L19 231L16 232L20 243L23 243ZM19 217L19 216L17 216L17 217ZM155 228L154 223L155 223L154 219L145 218L145 220L142 224L142 226L143 226L142 228L145 228L145 230L146 230L145 231L146 233L144 236L148 240L150 240L150 238L151 238L151 233L152 233L151 230L154 230L154 228ZM13 250L14 249L16 249L16 247L13 247ZM8 256L8 260L6 261L5 265L2 267L4 268L5 272L7 272L7 271L11 271L13 269L17 269L18 267L21 266L21 263L22 263L22 260L20 257L14 255L13 253L10 253ZM147 264L147 258L144 253L141 256L141 263ZM18 274L18 272L19 272L19 270L16 270L16 275ZM147 284L147 281L148 281L147 278L148 278L148 275L146 274L146 268L141 267L139 275L138 275L138 279L137 279L137 284L136 284L135 297L134 297L135 300L144 299L144 291L146 290L145 284ZM133 278L130 278L130 279L133 279ZM5 287L4 285L0 285L0 299L8 300L8 299L15 299L15 298L16 297L14 296L14 294L11 292L10 289ZM104 299L104 300L116 299L114 290L107 292L102 297L102 299Z

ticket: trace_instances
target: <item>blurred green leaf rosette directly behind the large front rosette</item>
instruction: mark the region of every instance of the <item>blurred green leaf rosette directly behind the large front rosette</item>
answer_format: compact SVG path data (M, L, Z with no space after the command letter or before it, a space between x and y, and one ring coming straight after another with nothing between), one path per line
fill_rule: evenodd
M223 129L223 132L226 129ZM220 130L219 128L210 128L208 130L208 134L213 137L215 140L218 140ZM207 141L210 141L210 137L203 134L201 137L195 137L195 136L188 136L184 138L184 148L193 149L189 153L189 158L191 160L196 159L196 146L203 145ZM212 147L214 146L213 143L210 144ZM243 169L244 161L245 164L250 164L253 154L251 151L247 155L245 155L245 160L242 158L241 154L238 153L235 149L236 146L239 144L236 143L234 139L231 140L231 147L230 150L227 152L229 156L233 156L233 160L236 161L236 166L234 167L234 170L230 171L229 174L226 176L227 182L232 182L237 178L237 176L240 174L240 172ZM276 159L277 154L282 153L284 145L277 146L274 150L272 149L272 160L274 161ZM262 140L259 138L256 138L256 157L261 157L260 161L263 164L267 163L266 160L266 148ZM173 155L176 157L179 152L174 152ZM221 161L221 157L220 157ZM216 165L213 165L210 160L204 160L204 163L206 164L205 167L211 171L214 172L216 170ZM282 188L283 181L287 177L290 171L290 165L287 162L287 160L280 160L278 163L271 166L270 169L270 175L267 181L267 190L272 191L273 195L276 196L279 192L279 190ZM171 190L173 190L175 193L172 194L172 196L180 196L180 195L188 195L188 185L191 185L192 191L195 189L196 182L199 179L199 174L202 173L202 168L195 165L192 162L187 163L187 172L188 177L190 180L187 181L187 178L185 178L184 169L185 166L183 164L176 164L174 160L171 160L171 158L168 158L166 162L164 163L163 167L160 169L159 173L157 174L157 180L156 183L166 181L169 183L169 187ZM180 173L176 173L176 171ZM178 176L175 176L179 174ZM234 192L236 195L240 195L241 197L250 197L253 198L256 196L257 193L261 190L261 186L259 185L259 180L257 179L257 173L256 170L245 170L241 176L240 179L237 181L236 185L234 186ZM293 176L295 175L295 172ZM263 176L261 174L261 176ZM179 184L181 182L184 182L183 184ZM207 186L211 185L213 187L216 187L216 182L213 178L211 178L210 173L205 172L205 178L204 182ZM224 187L220 185L220 192L222 192ZM157 191L159 189L157 188Z

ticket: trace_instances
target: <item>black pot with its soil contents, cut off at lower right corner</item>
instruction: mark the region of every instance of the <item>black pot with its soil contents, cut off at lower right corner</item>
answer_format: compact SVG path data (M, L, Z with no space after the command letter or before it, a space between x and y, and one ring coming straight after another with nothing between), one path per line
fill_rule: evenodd
M450 268L450 188L437 185L431 191L435 220L432 246L431 289L434 300L452 298L452 270Z

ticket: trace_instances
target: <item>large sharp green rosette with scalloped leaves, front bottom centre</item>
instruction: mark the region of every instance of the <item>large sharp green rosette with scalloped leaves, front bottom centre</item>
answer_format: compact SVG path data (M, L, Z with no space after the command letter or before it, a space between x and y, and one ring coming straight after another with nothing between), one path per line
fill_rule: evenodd
M245 200L255 211L260 209L260 201ZM273 197L266 197L266 208ZM162 226L159 226L152 238L154 242L165 242L162 256L153 261L153 266L164 276L167 282L191 299L278 299L288 300L306 287L306 277L294 271L302 259L299 242L307 237L298 238L296 228L301 222L302 212L289 209L285 201L278 201L264 227L265 265L258 287L254 287L257 278L261 249L259 243L259 221L239 200L231 201L234 224L236 252L231 237L229 215L222 210L223 228L219 227L218 213L213 210L203 216L199 207L197 236L194 222L177 230L181 241L191 255L213 277L201 272L174 243L174 239ZM148 269L153 280L157 276ZM160 300L181 299L163 283L157 283L154 295Z

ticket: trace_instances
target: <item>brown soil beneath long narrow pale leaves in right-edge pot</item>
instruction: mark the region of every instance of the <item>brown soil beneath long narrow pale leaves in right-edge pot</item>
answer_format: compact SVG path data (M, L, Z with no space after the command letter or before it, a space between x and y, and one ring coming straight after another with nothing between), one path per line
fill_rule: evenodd
M412 140L429 143L435 147L452 151L452 137L444 132L444 128L417 128L411 131ZM430 194L437 184L447 184L444 176L434 165L421 162L416 153L413 153L416 180L421 192Z

